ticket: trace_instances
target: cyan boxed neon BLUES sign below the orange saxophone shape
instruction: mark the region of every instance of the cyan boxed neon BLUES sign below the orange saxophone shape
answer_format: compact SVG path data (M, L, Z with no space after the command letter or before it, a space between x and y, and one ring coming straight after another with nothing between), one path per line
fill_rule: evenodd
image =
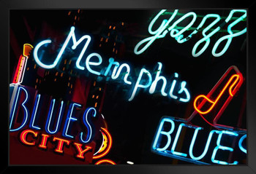
M164 127L170 128L165 130ZM187 137L186 141L188 142L184 142L186 144L189 144L189 146L182 146L182 151L178 151L176 150L176 146L181 138L181 130L189 132L190 134L194 131L194 133L192 135L192 139L189 139ZM246 141L244 141L244 139L246 138L246 134L241 133L240 131L235 132L229 130L211 130L210 133L208 133L206 143L205 141L200 142L199 145L198 141L196 142L198 133L202 135L202 133L206 133L206 131L203 130L203 127L187 124L184 120L178 120L174 117L165 116L160 120L159 127L154 138L152 151L163 156L173 157L195 164L208 165L212 163L219 165L238 165L238 161L227 162L227 159L217 159L216 155L218 153L224 153L222 151L234 151L234 149L230 147L232 146L232 143L229 143L230 146L222 145L222 136L225 136L225 142L227 142L227 140L230 142L237 140L235 146L236 152L246 158L246 151L244 149L244 145L241 145L246 143ZM201 154L198 157L195 157L193 151L195 151L195 148L198 149L198 146L200 147ZM201 161L202 159L204 159L204 162Z

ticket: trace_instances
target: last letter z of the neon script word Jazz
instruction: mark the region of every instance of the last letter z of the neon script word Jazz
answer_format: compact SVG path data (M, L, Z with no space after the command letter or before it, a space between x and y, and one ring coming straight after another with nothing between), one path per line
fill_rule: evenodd
M221 55L223 55L226 51L227 48L230 46L230 43L233 39L233 37L236 36L240 36L243 33L246 33L246 28L244 28L242 31L238 31L237 33L233 33L233 31L231 30L231 28L236 25L237 23L239 23L241 20L244 20L244 18L246 17L246 9L232 9L230 11L230 14L228 15L227 19L225 20L226 23L228 23L231 19L231 17L233 16L233 14L235 12L244 12L244 15L242 15L241 17L238 17L237 20L235 20L233 23L230 23L230 25L227 26L227 32L230 33L227 36L223 36L221 37L219 40L217 40L217 42L214 44L214 48L212 49L212 55L214 55L215 57L219 57ZM217 48L219 47L219 44L224 41L225 39L227 39L227 42L225 44L225 47L222 49L221 52L217 53Z

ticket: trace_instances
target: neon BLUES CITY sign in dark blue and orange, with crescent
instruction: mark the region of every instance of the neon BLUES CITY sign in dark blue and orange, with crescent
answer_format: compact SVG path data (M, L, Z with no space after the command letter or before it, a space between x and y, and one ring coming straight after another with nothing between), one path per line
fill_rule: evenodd
M75 110L81 110L81 105L79 103L69 103L69 106L67 106L67 116L66 119L64 119L64 101L51 99L47 111L48 114L45 118L45 127L42 129L43 121L39 119L39 116L42 116L42 114L38 111L42 104L42 95L37 94L35 96L34 106L31 112L32 115L29 118L30 108L27 106L27 103L29 102L29 98L31 98L30 92L26 87L22 87L19 84L15 84L15 87L15 90L12 92L12 95L15 95L15 102L13 102L10 112L10 132L13 133L20 130L18 134L20 143L26 146L37 146L39 149L44 150L48 150L48 147L53 147L53 151L57 154L64 154L65 149L73 147L76 151L74 157L82 160L88 157L86 156L87 153L92 153L95 147L92 146L91 141L94 140L95 131L97 131L95 130L93 122L91 122L91 117L97 116L95 108L87 108L86 111L83 112L83 116L81 117L83 119L82 124L86 129L83 129L82 125L81 129L78 129L80 133L78 132L77 135L75 135L72 134L75 128L72 123L79 122L78 114L76 114L77 111ZM20 110L23 110L23 114L20 114ZM20 119L22 117L23 119ZM18 119L20 119L21 122L17 122ZM102 119L104 119L103 116ZM64 127L62 128L60 126L61 122L64 122ZM27 125L28 123L29 125ZM99 161L95 162L96 165L105 163L115 165L116 163L110 159L104 159L106 161L101 159L110 151L112 138L108 129L105 127L100 127L99 132L102 134L102 144L99 146L97 152L92 154L91 159L99 159ZM63 138L60 138L59 135L62 135ZM80 142L78 143L77 141ZM52 145L49 145L50 143Z

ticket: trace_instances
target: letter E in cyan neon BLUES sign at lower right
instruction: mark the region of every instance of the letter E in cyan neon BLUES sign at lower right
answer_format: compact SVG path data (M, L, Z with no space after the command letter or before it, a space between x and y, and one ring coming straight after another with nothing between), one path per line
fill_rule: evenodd
M227 134L227 135L231 135L231 136L238 136L237 133L232 133L232 132L227 131L227 130L222 130L221 133L219 133L219 136L218 136L218 139L217 139L217 146L214 148L214 151L212 153L211 162L214 162L214 163L217 163L217 164L220 164L220 165L237 165L238 164L237 161L235 161L233 163L227 163L227 162L223 162L223 161L219 161L219 160L215 159L215 156L216 156L217 151L219 149L221 149L222 151L233 151L233 149L230 148L230 147L220 145L220 141L222 139L223 134Z

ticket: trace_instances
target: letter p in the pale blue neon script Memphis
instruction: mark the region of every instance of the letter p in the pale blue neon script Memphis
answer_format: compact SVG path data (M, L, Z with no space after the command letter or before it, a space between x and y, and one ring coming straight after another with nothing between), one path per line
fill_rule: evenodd
M142 78L144 73L148 76L148 82L146 84L140 84L141 78ZM136 91L138 90L139 87L140 88L147 88L147 87L149 87L151 85L151 82L152 82L151 74L145 68L142 68L140 70L140 75L138 76L138 80L137 80L137 82L135 84L135 87L134 87L134 89L132 91L132 95L129 98L129 101L131 101L135 97L135 93L136 93Z

